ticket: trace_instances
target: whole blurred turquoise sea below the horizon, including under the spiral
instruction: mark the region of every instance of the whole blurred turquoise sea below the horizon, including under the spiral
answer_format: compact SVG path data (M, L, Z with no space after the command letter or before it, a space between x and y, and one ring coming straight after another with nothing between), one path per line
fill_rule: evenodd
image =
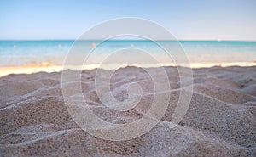
M166 53L167 52L167 53ZM81 55L83 54L83 55ZM86 54L86 55L85 55ZM114 55L113 55L114 54ZM109 62L137 62L151 56L157 62L169 62L182 54L189 63L256 62L256 42L246 41L145 41L145 40L37 40L0 41L0 66L26 64L67 64L67 59L86 64ZM88 57L87 55L90 55ZM113 56L111 56L113 55ZM87 57L86 57L87 56ZM122 57L123 56L123 57ZM173 57L174 56L174 57ZM72 58L72 59L71 59ZM174 58L174 59L173 59Z

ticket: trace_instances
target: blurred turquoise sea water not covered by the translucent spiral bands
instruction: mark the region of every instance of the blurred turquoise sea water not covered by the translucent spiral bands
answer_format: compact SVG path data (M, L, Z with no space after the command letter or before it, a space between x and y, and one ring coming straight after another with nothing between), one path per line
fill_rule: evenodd
M41 64L63 64L67 53L73 46L72 40L67 41L0 41L0 66ZM158 41L168 45L172 41ZM81 42L79 53L88 53L97 41ZM253 62L256 61L256 42L218 42L218 41L181 41L180 45L187 54L190 63L224 63L224 62ZM84 49L83 49L84 48ZM149 53L159 54L160 48L150 41L115 40L96 47L90 63L97 63L101 55L112 53L123 48L138 48ZM172 53L180 53L179 51ZM136 52L131 55L136 56ZM76 63L76 54L73 54Z

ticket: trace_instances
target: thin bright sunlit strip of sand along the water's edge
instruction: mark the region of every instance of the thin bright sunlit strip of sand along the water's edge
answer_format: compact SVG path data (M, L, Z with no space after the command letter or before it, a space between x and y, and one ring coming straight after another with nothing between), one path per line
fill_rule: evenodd
M106 64L104 67L101 67L105 70L112 70L113 67L125 67L125 66L132 66L133 64ZM159 67L159 65L155 64L139 64L142 67L150 68L150 67ZM168 64L162 63L161 66L186 66L187 64ZM256 66L256 62L230 62L230 63L190 63L190 68L197 69L197 68L211 68L213 66L220 66L220 67L229 67L229 66ZM68 69L71 70L80 70L80 66L78 65L67 65ZM100 64L88 64L82 67L82 70L93 70L99 68ZM187 66L188 67L188 66ZM25 65L9 65L9 66L0 66L0 77L8 76L9 74L32 74L37 72L59 72L64 69L62 64L49 64L49 63L42 63L42 64L25 64ZM66 68L67 69L67 68Z

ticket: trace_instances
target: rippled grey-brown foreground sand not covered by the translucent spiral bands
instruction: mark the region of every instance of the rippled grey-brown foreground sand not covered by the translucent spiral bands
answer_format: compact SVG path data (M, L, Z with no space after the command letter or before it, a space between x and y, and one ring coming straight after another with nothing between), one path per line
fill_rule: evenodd
M255 156L256 66L193 70L189 109L170 126L180 82L175 67L165 68L172 87L168 108L146 134L128 141L108 141L81 129L67 111L61 72L10 74L0 78L0 156ZM157 75L158 68L150 68ZM108 109L96 94L96 70L83 70L84 98L90 109L116 124L137 121L152 102L154 84L145 70L126 67L111 80L113 96L127 98L125 85L139 82L140 103L130 111ZM159 76L159 81L161 76Z

